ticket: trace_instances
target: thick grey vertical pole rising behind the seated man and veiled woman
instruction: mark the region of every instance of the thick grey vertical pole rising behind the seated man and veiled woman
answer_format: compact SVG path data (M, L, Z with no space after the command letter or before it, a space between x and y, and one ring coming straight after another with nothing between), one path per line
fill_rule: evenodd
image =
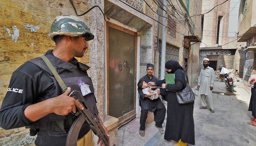
M166 5L167 0L163 0L163 27L162 27L162 47L161 47L161 68L160 68L160 80L165 78L165 52L166 52Z

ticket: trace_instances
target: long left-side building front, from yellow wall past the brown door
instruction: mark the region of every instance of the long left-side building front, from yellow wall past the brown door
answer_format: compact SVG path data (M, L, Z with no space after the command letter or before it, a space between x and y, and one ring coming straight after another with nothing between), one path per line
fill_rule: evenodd
M146 74L147 63L154 64L155 74L160 74L163 49L165 62L169 59L180 62L190 84L196 84L201 34L201 16L196 14L201 14L202 0L72 0L74 7L70 1L61 0L0 1L0 105L12 72L27 60L54 49L49 38L53 19L57 15L77 15L75 9L78 15L83 14L95 5L79 16L95 38L78 60L91 67L89 75L99 114L112 144L117 145L118 127L139 116L136 84ZM163 19L166 19L164 27L160 24ZM163 32L166 32L164 37ZM1 137L20 133L20 139L29 133L25 128L0 130Z

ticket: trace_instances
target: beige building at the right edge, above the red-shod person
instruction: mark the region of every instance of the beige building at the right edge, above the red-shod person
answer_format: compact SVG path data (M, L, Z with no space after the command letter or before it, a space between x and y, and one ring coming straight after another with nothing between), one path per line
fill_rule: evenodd
M246 42L243 54L245 56L243 82L249 84L252 78L256 78L256 1L241 0L239 8L239 33L238 42ZM247 86L246 86L247 87Z

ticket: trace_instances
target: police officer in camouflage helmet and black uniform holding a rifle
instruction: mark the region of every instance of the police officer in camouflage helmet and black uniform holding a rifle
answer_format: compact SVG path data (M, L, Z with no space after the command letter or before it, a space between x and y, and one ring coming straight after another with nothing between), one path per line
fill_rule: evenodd
M87 74L89 66L74 58L83 57L88 49L87 41L94 38L90 28L76 16L57 16L50 38L56 46L45 56L67 85L67 91L62 93L44 61L34 58L14 71L0 109L0 126L4 129L29 126L30 134L37 134L36 146L65 145L67 132L75 120L71 112L76 112L76 106L83 109L68 96L71 90L81 91L90 110L98 116L93 83ZM102 127L108 135L106 127L103 124ZM100 139L99 143L103 144ZM94 146L92 131L86 124L79 132L78 146Z

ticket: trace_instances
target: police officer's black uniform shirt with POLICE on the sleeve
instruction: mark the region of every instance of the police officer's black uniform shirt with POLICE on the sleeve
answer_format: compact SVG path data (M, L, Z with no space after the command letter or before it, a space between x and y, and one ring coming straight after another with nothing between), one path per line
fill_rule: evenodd
M49 50L46 53L46 55L52 55L52 57L56 60L56 62L53 62L54 66L60 66L61 68L61 65L65 64L64 61L61 61L60 59L53 56L52 50ZM75 58L72 62L69 62L69 63L78 65L78 61ZM67 64L69 63L67 62ZM69 66L64 66L64 69L68 69L68 68ZM31 104L35 104L45 100L45 97L47 97L48 94L51 93L53 89L56 90L55 88L56 84L57 84L56 81L53 81L53 78L49 77L49 74L46 74L45 71L42 70L37 65L31 62L25 62L25 64L21 65L12 74L9 87L7 89L7 93L1 105L0 127L4 129L11 129L11 128L18 128L23 126L30 126L31 124L34 124L34 122L31 122L29 119L25 117L24 115L25 108ZM92 91L93 90L94 89L92 89ZM58 93L55 93L56 95L61 94L60 87L57 88L57 92ZM93 113L98 115L96 100L94 95L92 96L93 97L90 96L90 98L88 98L87 101L89 102L90 109L93 111ZM56 97L56 96L52 96L52 97ZM37 139L39 139L39 141L37 142L40 143L39 145L49 144L53 146L59 145L58 143L60 141L61 143L65 143L65 138L66 138L65 136L58 137L58 138L50 137L48 138L49 142L46 142L46 141L40 141L39 137L49 137L47 136L47 133L41 132L41 134L38 135L37 137ZM44 139L44 138L41 138L41 139Z

